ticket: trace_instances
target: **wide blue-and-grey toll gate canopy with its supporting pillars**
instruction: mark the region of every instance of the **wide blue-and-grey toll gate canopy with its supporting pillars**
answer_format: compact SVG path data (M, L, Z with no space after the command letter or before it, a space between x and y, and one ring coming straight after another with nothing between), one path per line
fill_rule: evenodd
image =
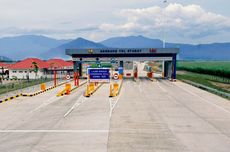
M124 67L126 61L163 61L163 77L176 79L176 60L178 48L102 48L102 49L66 49L66 54L72 56L74 72L82 76L82 63L94 60L119 61L119 66Z

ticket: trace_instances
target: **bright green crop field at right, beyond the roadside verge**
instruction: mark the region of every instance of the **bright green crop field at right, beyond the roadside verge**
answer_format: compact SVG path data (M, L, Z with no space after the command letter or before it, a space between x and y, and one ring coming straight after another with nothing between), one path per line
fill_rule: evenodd
M230 61L179 61L177 69L230 78Z

